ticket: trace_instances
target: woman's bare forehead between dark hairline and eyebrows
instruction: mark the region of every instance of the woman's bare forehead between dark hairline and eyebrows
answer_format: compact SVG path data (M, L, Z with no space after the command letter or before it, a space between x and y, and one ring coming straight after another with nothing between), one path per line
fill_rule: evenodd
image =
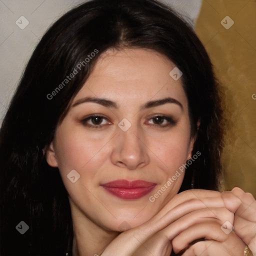
M118 97L121 102L141 102L171 96L186 106L181 78L174 80L169 75L174 67L166 56L153 50L109 49L99 57L74 100L98 96L114 101Z

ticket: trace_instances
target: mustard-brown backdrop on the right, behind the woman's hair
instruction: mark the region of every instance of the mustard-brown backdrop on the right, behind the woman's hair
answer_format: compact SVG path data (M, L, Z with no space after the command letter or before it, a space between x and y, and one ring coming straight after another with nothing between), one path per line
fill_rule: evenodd
M195 30L223 85L223 189L256 197L256 1L202 0Z

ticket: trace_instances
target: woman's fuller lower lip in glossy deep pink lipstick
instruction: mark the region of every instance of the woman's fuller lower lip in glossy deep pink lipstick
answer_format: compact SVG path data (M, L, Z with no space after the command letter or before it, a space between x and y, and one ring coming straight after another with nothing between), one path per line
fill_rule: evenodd
M138 199L150 191L153 190L155 185L148 186L148 187L135 187L135 188L121 188L121 187L109 187L109 186L102 186L105 188L110 194L115 195L121 199L126 200L134 200Z

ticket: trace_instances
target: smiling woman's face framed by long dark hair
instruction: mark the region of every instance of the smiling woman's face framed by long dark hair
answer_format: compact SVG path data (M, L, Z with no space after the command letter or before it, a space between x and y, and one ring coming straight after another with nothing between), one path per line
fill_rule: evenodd
M144 223L178 192L193 140L174 67L146 49L97 60L47 151L72 214L117 231Z

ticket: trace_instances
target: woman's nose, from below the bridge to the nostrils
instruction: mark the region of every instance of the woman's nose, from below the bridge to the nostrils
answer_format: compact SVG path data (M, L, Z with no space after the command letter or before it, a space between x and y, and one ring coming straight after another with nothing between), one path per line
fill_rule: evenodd
M117 127L117 136L110 156L113 164L133 170L149 163L148 147L143 141L142 132L135 125L131 125L126 131Z

